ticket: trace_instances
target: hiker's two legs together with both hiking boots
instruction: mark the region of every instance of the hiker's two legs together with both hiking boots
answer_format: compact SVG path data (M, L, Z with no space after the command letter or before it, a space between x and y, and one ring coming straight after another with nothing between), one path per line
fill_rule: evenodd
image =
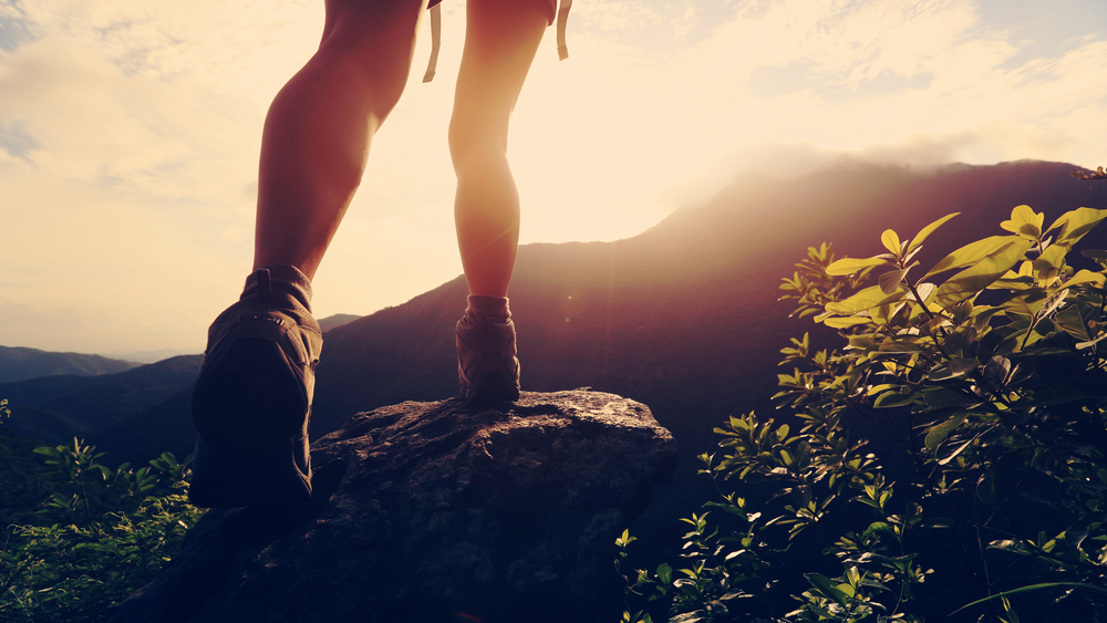
M446 0L457 2L462 0ZM465 0L465 46L449 123L454 219L469 299L456 326L463 396L518 397L507 289L519 197L507 162L511 112L554 21L550 0ZM255 272L209 331L193 395L198 506L310 498L307 418L322 338L311 287L411 72L427 0L327 0L319 50L266 117ZM372 276L365 285L371 287Z

